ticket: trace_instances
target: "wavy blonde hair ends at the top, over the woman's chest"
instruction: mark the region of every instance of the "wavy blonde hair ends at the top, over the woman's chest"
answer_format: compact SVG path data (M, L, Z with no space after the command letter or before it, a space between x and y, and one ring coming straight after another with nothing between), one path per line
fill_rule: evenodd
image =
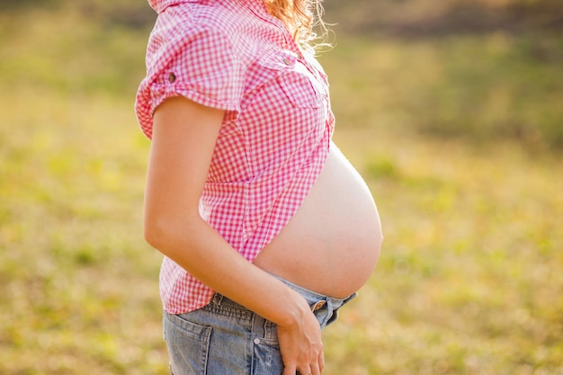
M293 40L301 49L314 52L318 46L327 46L326 42L317 42L326 36L326 23L322 20L322 0L265 0L268 12L285 23ZM320 35L314 31L318 26Z

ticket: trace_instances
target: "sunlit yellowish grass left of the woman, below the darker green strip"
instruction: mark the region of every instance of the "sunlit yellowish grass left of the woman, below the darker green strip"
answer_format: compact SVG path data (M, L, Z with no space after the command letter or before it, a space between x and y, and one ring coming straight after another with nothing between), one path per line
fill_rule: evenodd
M162 372L130 103L2 93L0 373Z

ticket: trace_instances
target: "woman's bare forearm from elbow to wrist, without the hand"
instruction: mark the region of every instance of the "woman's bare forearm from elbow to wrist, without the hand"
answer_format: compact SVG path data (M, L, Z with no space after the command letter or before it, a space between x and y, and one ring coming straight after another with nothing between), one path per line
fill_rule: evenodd
M308 312L297 292L248 262L199 215L167 220L147 230L146 238L211 289L279 326L291 326Z

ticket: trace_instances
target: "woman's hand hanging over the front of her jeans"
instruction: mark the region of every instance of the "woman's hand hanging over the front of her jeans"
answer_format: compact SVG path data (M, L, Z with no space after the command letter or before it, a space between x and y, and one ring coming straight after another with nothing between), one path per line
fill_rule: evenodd
M283 375L295 375L296 371L302 375L320 375L325 367L320 326L305 299L297 296L302 300L300 317L293 324L278 325Z

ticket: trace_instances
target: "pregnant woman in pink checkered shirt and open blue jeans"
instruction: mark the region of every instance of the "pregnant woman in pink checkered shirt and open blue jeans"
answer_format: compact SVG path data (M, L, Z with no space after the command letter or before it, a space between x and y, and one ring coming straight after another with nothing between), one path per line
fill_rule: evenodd
M331 141L319 4L149 2L136 111L152 140L144 226L165 254L171 371L319 375L321 329L367 281L382 238Z

